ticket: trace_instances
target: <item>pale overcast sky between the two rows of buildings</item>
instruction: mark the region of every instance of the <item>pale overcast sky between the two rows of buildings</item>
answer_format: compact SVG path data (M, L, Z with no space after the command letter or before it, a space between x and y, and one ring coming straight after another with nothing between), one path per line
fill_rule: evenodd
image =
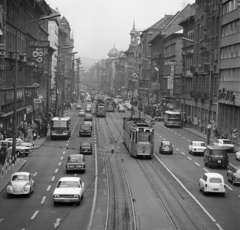
M147 29L165 14L176 14L195 0L45 0L58 8L74 35L74 51L82 57L107 58L114 46L126 51L135 20L136 29Z

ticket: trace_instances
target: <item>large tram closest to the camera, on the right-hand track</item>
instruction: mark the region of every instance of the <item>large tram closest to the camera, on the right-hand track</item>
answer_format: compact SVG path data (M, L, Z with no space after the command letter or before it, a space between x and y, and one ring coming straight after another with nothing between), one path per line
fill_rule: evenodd
M123 142L133 157L152 158L154 128L142 118L123 119Z

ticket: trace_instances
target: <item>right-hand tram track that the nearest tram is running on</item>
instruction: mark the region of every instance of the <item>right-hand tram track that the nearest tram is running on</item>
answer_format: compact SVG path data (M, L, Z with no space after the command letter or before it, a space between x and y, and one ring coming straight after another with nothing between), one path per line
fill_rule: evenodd
M109 114L109 113L108 113ZM115 113L115 116L121 116ZM114 117L109 115L115 128L121 135L121 128L114 122ZM173 229L189 229L189 230L207 230L204 223L198 218L193 210L184 201L181 194L175 189L164 173L166 170L161 169L161 165L154 160L135 159L138 167L146 179L149 187L155 195L157 201L166 213Z

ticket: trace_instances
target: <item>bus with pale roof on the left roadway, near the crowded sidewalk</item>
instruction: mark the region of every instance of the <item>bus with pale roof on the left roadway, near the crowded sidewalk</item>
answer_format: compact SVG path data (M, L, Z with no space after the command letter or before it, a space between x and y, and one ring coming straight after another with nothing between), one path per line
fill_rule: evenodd
M51 120L50 137L55 138L65 137L70 138L71 135L71 118L70 117L54 117Z

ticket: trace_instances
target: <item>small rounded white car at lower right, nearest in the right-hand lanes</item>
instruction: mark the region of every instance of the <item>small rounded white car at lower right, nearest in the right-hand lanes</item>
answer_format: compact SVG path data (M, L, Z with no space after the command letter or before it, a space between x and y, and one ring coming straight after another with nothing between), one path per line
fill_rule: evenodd
M199 188L204 195L206 193L221 193L225 196L226 185L223 176L219 173L204 173L199 179Z

